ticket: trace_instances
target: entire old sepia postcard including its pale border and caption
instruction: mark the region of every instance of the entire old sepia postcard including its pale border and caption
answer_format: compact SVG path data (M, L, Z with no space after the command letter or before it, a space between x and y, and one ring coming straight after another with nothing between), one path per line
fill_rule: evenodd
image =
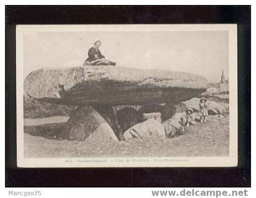
M18 25L19 167L237 166L237 25Z

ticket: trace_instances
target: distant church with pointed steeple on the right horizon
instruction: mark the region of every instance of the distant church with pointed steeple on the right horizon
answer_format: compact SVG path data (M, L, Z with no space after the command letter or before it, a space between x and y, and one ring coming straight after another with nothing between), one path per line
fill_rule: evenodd
M209 83L209 88L206 92L212 95L213 93L221 93L229 91L229 81L226 80L224 71L222 70L221 81L216 83Z

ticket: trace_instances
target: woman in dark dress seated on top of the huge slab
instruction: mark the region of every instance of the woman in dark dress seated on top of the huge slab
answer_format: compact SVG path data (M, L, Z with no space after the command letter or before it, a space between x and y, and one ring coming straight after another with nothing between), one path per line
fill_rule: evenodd
M88 58L84 61L84 65L116 65L115 62L105 59L105 56L101 54L99 49L100 46L101 41L96 40L94 47L91 47L88 51Z

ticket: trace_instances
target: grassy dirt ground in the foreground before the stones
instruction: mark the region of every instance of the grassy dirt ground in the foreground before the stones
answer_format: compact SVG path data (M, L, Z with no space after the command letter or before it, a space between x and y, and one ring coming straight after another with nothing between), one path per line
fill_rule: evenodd
M54 140L49 137L53 133L60 133L63 123L57 123L54 127L54 132L47 132L43 127L24 127L25 158L223 157L229 155L228 117L220 120L212 119L203 124L197 123L186 128L181 136L171 139L130 139L122 142Z

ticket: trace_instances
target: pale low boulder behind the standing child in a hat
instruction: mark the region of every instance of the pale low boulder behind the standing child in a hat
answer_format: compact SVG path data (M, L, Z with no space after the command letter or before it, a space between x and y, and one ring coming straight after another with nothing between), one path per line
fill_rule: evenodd
M199 111L199 102L200 98L192 98L191 100L182 102L187 105L187 107L193 108L193 110ZM226 107L219 105L217 102L214 101L207 101L208 102L208 114L224 114L227 110Z

